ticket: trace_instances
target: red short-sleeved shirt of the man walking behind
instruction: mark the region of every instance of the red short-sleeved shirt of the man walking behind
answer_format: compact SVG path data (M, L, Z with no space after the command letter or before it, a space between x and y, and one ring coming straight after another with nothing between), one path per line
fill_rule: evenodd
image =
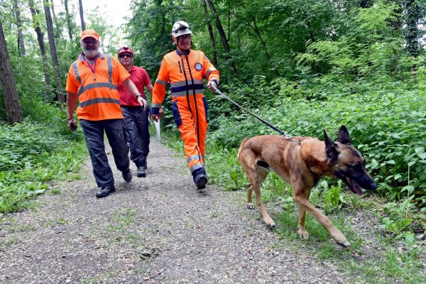
M147 84L151 84L151 80L149 79L148 73L142 67L137 67L133 65L131 70L129 71L130 80L136 84L136 88L139 91L139 94L146 99L146 95L144 92L145 86ZM140 107L141 104L138 103L137 99L133 94L131 94L124 84L119 84L119 92L120 92L120 104L122 106L128 107Z

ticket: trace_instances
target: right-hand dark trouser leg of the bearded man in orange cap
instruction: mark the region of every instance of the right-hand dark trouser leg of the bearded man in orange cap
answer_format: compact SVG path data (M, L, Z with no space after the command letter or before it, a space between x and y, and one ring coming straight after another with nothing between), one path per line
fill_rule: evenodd
M103 122L117 169L121 172L129 170L129 146L124 138L123 119L108 119Z

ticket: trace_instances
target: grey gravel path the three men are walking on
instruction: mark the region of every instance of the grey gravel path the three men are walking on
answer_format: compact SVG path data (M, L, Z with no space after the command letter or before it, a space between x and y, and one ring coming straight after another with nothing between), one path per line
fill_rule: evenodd
M112 155L109 154L109 158ZM350 283L333 263L286 248L245 192L197 192L181 155L151 139L146 178L94 197L82 180L13 214L0 228L1 283ZM1 243L0 243L1 244Z

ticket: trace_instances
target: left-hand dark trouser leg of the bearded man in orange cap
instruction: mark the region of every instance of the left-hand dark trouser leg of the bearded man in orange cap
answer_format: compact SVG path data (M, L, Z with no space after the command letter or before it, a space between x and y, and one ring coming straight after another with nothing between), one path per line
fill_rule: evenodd
M98 187L114 185L114 176L108 163L104 146L103 121L80 120L87 149L89 150L94 179Z

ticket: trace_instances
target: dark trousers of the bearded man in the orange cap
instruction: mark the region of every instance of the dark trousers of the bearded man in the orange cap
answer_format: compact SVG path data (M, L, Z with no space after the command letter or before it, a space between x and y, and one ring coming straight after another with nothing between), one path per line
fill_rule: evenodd
M124 140L123 119L106 119L89 121L80 119L90 159L93 175L98 187L114 185L114 176L105 153L104 132L107 133L109 145L116 167L121 172L128 170L130 165L129 146Z

